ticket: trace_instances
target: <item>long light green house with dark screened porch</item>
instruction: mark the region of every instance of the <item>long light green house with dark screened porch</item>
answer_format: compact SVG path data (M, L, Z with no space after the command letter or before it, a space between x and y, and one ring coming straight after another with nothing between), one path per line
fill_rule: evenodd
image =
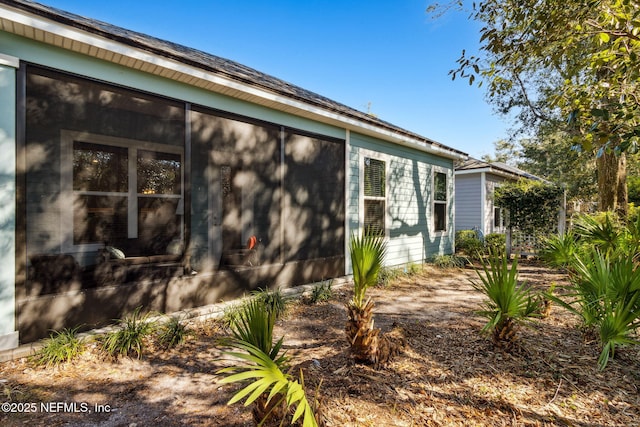
M0 0L0 350L452 252L444 146L241 64Z

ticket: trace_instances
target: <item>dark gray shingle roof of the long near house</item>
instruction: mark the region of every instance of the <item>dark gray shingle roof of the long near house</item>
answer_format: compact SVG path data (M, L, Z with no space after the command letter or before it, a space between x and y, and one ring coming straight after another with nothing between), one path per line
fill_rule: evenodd
M82 17L50 6L45 6L30 0L0 0L0 3L10 5L25 12L33 13L43 18L105 37L134 48L145 50L155 55L170 58L181 63L239 81L243 84L256 86L278 95L286 96L315 107L356 119L369 125L380 127L418 140L423 144L438 147L457 155L466 156L466 153L462 151L440 144L422 135L395 126L389 122L380 120L377 117L358 111L327 97L262 73L253 68L244 66L235 61L146 34L117 27L95 19Z

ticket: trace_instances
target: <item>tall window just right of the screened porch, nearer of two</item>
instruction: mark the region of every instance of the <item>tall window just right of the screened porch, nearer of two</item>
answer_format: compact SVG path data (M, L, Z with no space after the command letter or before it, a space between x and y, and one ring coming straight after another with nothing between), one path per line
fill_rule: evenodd
M385 234L386 164L369 157L364 159L364 233Z

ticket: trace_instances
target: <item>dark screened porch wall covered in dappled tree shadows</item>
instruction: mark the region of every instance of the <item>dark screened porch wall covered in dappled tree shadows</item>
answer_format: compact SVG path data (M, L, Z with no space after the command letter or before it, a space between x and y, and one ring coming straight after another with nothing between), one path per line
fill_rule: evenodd
M176 311L344 274L344 141L194 108L185 159L184 104L36 67L27 75L23 342L139 306ZM66 146L65 132L76 135ZM219 268L252 235L260 259Z

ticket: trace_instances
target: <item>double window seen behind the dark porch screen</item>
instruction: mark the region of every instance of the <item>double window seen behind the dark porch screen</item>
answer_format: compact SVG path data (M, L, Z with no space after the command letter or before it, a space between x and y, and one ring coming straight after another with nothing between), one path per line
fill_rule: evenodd
M134 254L161 254L181 238L181 148L67 131L62 141L72 246L126 242Z

